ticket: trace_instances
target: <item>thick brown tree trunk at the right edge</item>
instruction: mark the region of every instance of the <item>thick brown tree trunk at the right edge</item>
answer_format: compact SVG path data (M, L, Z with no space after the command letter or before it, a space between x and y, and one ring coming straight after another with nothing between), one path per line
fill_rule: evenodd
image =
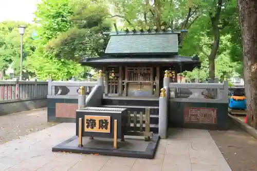
M237 0L243 36L247 123L257 129L257 1Z

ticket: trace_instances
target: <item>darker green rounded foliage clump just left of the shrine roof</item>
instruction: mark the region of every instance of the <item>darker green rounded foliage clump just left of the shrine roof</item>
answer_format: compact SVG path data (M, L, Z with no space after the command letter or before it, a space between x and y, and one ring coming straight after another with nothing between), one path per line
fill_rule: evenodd
M58 59L80 62L83 56L94 57L103 53L104 45L102 34L74 27L49 41L46 48Z

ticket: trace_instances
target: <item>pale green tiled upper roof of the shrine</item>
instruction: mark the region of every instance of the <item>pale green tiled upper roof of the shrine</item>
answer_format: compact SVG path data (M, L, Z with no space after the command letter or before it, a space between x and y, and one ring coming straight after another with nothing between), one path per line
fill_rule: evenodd
M178 53L178 33L111 34L106 54Z

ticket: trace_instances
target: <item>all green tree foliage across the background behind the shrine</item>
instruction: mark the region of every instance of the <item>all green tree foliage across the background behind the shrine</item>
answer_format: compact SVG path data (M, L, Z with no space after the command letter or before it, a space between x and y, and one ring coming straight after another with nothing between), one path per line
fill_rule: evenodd
M214 40L211 17L215 16L216 3L212 0L42 0L35 12L35 20L40 26L22 22L0 23L0 70L5 71L12 64L15 73L19 74L20 34L17 26L26 25L23 59L29 75L44 80L48 77L54 80L85 77L84 73L91 68L83 68L79 62L84 56L103 54L108 37L101 33L109 31L111 23L120 18L118 25L129 28L165 25L188 29L188 33L181 36L179 53L198 54L202 66L183 75L190 80L199 76L203 81L209 78L208 56ZM223 81L235 72L243 75L241 29L235 0L223 1L218 27L221 40L215 58L215 75ZM32 39L31 33L35 32L38 39Z

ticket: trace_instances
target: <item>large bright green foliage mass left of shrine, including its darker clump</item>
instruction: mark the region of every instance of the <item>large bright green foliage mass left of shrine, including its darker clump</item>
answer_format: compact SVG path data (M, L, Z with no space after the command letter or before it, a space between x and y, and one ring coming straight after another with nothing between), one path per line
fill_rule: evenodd
M101 34L111 27L106 9L105 4L94 1L44 0L35 13L42 24L41 40L27 58L26 68L40 79L83 77L89 68L83 69L78 62L85 55L101 55L107 45Z

